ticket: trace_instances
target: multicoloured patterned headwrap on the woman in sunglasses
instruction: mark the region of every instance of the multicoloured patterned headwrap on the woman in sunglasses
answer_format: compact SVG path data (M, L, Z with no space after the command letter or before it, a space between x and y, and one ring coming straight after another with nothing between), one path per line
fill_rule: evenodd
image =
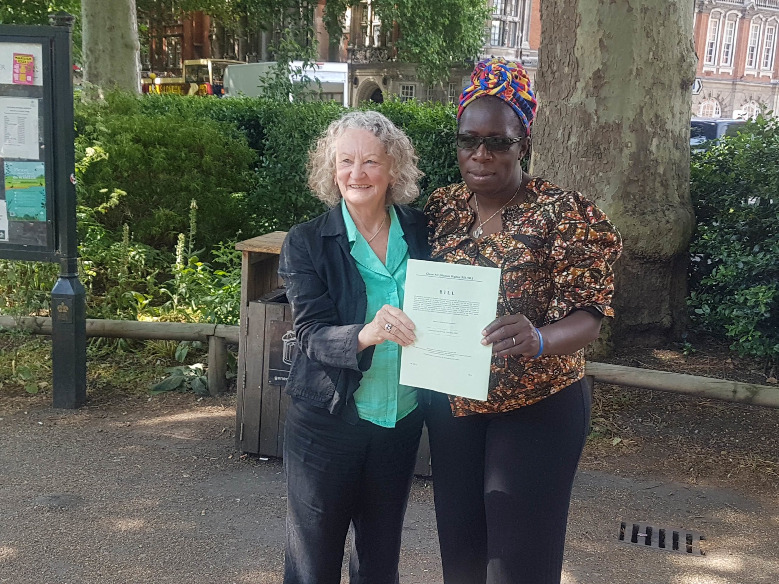
M530 135L530 125L535 118L538 101L530 89L530 78L520 63L506 61L505 58L489 58L477 63L471 73L471 85L460 96L460 108L457 119L463 114L465 106L485 95L500 97L509 104Z

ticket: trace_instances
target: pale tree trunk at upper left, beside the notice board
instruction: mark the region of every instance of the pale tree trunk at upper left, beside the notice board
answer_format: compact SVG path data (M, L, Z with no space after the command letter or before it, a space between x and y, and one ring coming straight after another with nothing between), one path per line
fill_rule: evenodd
M141 93L136 0L82 0L84 81Z

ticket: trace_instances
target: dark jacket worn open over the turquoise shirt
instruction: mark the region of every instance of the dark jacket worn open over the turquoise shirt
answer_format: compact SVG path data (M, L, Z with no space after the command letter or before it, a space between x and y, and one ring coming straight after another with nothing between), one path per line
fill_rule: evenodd
M427 219L417 209L395 206L411 259L430 259ZM339 413L368 371L374 347L357 353L365 326L365 282L349 248L340 206L295 225L281 247L279 276L292 307L298 352L286 392Z

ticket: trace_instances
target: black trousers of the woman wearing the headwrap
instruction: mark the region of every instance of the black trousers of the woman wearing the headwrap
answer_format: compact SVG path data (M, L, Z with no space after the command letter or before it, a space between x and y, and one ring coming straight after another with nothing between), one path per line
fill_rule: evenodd
M453 417L433 392L435 516L445 584L559 584L592 396L576 382L507 413Z

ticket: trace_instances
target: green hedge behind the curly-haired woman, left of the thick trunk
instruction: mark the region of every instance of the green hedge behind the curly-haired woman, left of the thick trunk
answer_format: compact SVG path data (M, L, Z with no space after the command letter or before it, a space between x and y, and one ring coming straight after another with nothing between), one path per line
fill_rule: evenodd
M460 180L449 104L374 105L411 137L425 172L423 197ZM284 104L262 98L206 99L115 93L104 104L77 104L77 142L100 146L82 204L95 206L118 188L127 195L104 216L118 230L129 222L147 245L172 248L185 230L189 202L199 209L199 243L286 230L321 213L306 186L312 142L344 113L335 102ZM108 190L106 190L108 189Z

